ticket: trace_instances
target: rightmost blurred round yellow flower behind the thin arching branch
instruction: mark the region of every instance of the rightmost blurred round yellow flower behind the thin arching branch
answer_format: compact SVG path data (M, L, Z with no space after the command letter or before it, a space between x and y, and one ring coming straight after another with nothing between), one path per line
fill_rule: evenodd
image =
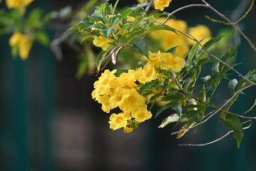
M212 38L210 29L204 25L198 25L195 27L191 27L188 29L188 33L190 33L198 41L200 41L203 37L206 36L206 38L203 41L201 41L201 44L204 44L205 42L209 41L210 38ZM193 46L193 45L195 45L196 42L188 39L188 43L190 43L190 45Z

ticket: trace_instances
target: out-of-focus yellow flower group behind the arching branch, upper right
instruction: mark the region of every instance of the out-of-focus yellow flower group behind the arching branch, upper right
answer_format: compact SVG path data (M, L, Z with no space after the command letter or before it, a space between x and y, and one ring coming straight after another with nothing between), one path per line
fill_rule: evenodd
M157 21L162 23L165 21L165 18L162 17ZM165 25L175 28L183 33L188 32L190 35L198 39L198 41L200 41L202 38L205 38L201 43L205 43L211 38L210 29L207 26L198 25L192 28L188 28L188 25L185 21L176 19L168 19ZM154 31L150 34L150 36L153 39L161 42L161 48L163 48L163 51L167 51L170 48L178 46L173 56L180 56L183 58L188 55L190 46L195 44L195 41L190 40L180 33L174 33L173 31Z

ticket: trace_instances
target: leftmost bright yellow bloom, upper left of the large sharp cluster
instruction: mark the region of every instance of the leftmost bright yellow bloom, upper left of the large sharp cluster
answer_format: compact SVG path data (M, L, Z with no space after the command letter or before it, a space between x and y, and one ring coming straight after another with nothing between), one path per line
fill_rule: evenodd
M93 98L98 100L99 95L109 94L111 93L111 88L116 88L116 76L114 73L116 73L116 70L105 70L100 78L98 78L98 81L93 83L93 87L95 88L91 93Z

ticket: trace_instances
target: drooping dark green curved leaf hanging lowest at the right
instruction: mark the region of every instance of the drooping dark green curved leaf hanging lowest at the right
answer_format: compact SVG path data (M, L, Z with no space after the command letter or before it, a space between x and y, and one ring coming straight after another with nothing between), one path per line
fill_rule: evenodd
M234 138L237 140L237 147L240 147L242 138L244 136L242 123L235 115L221 114L220 117L220 122L224 125L224 127L234 131Z

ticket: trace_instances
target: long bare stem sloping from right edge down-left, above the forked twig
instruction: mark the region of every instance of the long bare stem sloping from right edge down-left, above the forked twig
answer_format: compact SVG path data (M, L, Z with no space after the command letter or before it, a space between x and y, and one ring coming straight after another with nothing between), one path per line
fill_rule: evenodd
M228 99L223 105L221 105L220 108L218 108L212 115L210 115L208 118L206 118L206 119L203 120L202 122L200 122L200 123L198 123L198 124L195 124L195 125L193 125L192 127L187 128L187 129L185 129L185 130L190 130L191 128L195 128L195 127L197 127L198 125L202 125L203 123L206 123L210 118L212 118L214 115L216 115L218 112L220 112L220 110L222 110L222 108L224 108L225 105L227 105L228 103L230 103L230 101L231 101L233 98L235 98L236 95L238 95L239 93L241 93L242 90L245 90L245 89L247 89L247 88L250 88L251 86L252 86L252 84L250 84L249 86L246 86L246 87L244 87L244 88L238 90L237 92L234 93L234 95L232 95L232 97L231 97L230 99ZM181 133L181 132L183 132L183 131L185 131L185 130L179 130L179 131L173 132L173 133L171 133L171 135L175 135L175 134Z

